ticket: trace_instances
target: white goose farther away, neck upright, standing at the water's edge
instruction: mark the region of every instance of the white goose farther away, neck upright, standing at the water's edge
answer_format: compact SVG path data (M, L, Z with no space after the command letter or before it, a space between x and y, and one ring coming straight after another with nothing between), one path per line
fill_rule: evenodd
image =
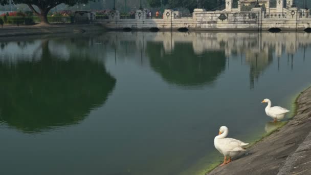
M290 112L287 109L280 106L271 107L271 101L268 98L264 99L261 103L268 103L264 111L267 116L274 119L274 122L282 120L285 114Z

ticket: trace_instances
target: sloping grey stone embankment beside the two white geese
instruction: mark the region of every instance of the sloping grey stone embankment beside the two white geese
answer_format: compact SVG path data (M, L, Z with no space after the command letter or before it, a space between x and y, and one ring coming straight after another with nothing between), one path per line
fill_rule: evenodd
M311 87L296 102L296 116L286 125L207 174L311 174Z

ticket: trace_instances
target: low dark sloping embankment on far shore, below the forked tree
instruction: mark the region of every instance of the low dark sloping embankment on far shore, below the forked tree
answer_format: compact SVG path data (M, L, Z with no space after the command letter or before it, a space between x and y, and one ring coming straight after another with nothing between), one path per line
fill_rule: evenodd
M4 27L0 28L0 37L53 33L83 33L104 30L105 28L103 26L97 24Z

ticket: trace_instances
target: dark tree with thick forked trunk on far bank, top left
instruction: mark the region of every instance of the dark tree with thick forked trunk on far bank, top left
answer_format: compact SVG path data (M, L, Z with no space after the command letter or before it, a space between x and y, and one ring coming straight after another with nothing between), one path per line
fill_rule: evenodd
M0 0L0 5L8 5L10 3L26 4L36 15L40 17L41 24L49 24L48 13L52 8L62 3L74 6L75 4L87 4L89 1L95 0ZM39 11L37 9L39 9Z

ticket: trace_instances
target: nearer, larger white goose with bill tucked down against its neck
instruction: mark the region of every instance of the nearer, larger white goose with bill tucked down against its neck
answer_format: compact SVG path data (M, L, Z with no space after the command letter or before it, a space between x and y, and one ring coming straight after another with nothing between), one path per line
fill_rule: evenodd
M228 127L221 126L219 128L219 135L214 139L215 148L225 156L224 163L220 166L231 162L231 157L238 155L241 151L245 151L244 147L248 145L248 143L236 139L226 138L228 133ZM228 161L227 157L229 157Z

